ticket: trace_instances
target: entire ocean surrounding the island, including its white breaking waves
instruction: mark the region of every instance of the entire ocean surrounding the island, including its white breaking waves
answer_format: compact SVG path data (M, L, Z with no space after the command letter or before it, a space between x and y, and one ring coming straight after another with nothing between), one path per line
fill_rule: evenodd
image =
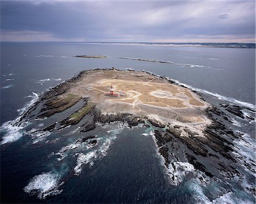
M108 58L73 57L77 55ZM250 111L244 114L254 120L234 116L227 125L246 138L247 143L234 142L242 156L251 158L254 173L241 164L242 180L216 179L205 185L186 162L176 163L183 169L175 172L179 183L170 182L152 127L98 124L88 134L97 135L100 146L88 151L74 146L82 135L79 126L33 135L31 128L44 121L13 125L49 88L82 70L112 67L150 71L197 91L217 107L234 104L255 111L255 49L1 42L2 203L255 203L247 190L255 189L255 115Z

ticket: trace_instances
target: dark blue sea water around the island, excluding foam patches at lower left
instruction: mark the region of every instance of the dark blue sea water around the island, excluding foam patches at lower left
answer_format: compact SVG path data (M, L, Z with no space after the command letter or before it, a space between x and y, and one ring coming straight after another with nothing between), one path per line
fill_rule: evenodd
M109 58L73 58L75 55L105 55ZM174 63L152 63L117 57L158 59ZM1 125L6 121L15 120L19 116L19 110L26 107L35 94L56 86L81 70L97 67L147 70L179 80L204 94L208 92L205 97L210 103L237 102L247 107L255 105L255 49L1 43ZM218 99L220 97L222 100ZM40 121L36 122L36 125L40 126ZM242 126L238 130L254 138L253 125ZM205 198L207 192L192 180L184 181L175 187L170 185L161 164L162 160L156 154L154 139L142 135L150 130L138 127L121 128L117 132L109 133L101 128L93 131L92 134L98 134L102 139L102 144L110 138L111 145L108 147L108 154L96 159L92 166L84 164L79 176L73 175L76 152L71 150L68 157L60 162L56 162L56 155L49 155L75 142L81 135L52 134L49 141L60 139L57 143L47 145L33 145L31 138L25 135L2 146L2 202L200 203L202 200L208 202L208 198L220 197L208 193L208 198ZM3 134L1 133L1 136ZM60 186L63 192L56 196L47 196L46 199L39 199L36 198L37 194L30 196L24 192L24 187L32 177L47 172L59 175L58 179L64 182ZM44 176L42 180L47 179L47 175ZM41 185L40 180L37 181L38 185ZM44 185L46 184L43 183L41 187L44 188ZM240 195L237 202L247 199L253 201L252 197L246 198L247 194L243 194L243 190L237 192L234 195L235 198ZM221 201L231 199L229 196L227 194Z

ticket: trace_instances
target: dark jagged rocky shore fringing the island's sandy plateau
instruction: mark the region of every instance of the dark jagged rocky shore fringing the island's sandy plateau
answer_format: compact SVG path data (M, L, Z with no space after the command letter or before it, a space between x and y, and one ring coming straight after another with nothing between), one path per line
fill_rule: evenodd
M235 176L242 177L240 172L237 171L238 165L241 163L245 165L249 171L255 173L254 168L251 167L251 164L246 163L246 160L241 160L241 163L238 163L236 156L234 156L234 152L237 152L237 150L234 148L233 141L235 139L241 139L241 135L228 128L223 122L232 121L226 112L244 119L246 116L243 114L242 110L246 109L245 107L221 104L220 107L223 108L222 110L210 105L208 108L204 109L203 113L211 123L205 126L203 135L199 135L198 131L190 128L191 125L189 125L189 123L183 121L164 123L163 121L155 120L139 112L137 114L123 112L104 113L96 104L90 101L89 97L75 95L68 95L64 98L60 97L65 95L68 90L71 90L73 85L79 83L86 74L89 74L89 71L82 71L72 79L45 92L39 97L39 100L34 106L23 114L22 118L35 120L37 118L51 117L56 113L64 112L80 103L80 107L69 114L64 120L56 121L54 124L42 130L53 131L55 129L63 129L70 125L79 124L85 117L86 121L80 125L80 133L94 130L97 123L104 125L117 121L126 123L130 128L138 126L139 124L145 128L151 126L154 128L153 134L156 146L164 160L164 166L167 172L170 171L171 168L176 168L176 162L183 161L192 164L195 169L203 172L206 177L213 179L231 179ZM176 83L174 80L163 76L148 72L147 74L165 79L171 84ZM201 97L201 100L204 99ZM254 110L249 109L249 111L255 114ZM251 116L247 116L247 118L254 120ZM94 135L90 135L77 142L86 142L88 139L94 138ZM97 143L97 141L94 140L90 142L92 146ZM181 152L181 154L174 152ZM174 180L174 177L172 177L172 179ZM255 195L255 190L249 189L249 191Z

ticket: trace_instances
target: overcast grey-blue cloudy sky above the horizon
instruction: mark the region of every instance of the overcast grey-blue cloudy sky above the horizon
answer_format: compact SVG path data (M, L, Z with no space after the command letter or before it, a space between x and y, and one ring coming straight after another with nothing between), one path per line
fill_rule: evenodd
M1 41L255 42L255 1L1 1Z

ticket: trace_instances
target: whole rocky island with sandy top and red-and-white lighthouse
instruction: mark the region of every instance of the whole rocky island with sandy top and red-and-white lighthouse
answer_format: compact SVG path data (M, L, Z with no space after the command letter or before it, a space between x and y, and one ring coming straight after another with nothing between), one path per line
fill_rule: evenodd
M242 177L237 171L240 165L254 171L253 164L246 158L241 156L239 163L236 158L239 150L233 141L240 138L246 142L246 138L224 122L232 120L224 110L242 118L241 110L246 107L222 104L221 108L223 110L207 103L199 93L175 80L148 71L95 69L81 71L44 92L20 121L49 118L50 124L33 130L40 133L77 124L80 133L89 133L98 124L117 121L130 128L151 127L156 150L170 174L170 182L179 185L181 181L174 172L189 173L189 165L193 165L202 172L199 178L203 185L209 179ZM76 148L79 143L87 142L88 148L92 148L97 145L95 138L96 135L86 134L72 146L62 148L59 154ZM180 161L189 165L183 167ZM74 169L75 175L81 171L80 167L81 164ZM255 193L253 188L247 190Z

